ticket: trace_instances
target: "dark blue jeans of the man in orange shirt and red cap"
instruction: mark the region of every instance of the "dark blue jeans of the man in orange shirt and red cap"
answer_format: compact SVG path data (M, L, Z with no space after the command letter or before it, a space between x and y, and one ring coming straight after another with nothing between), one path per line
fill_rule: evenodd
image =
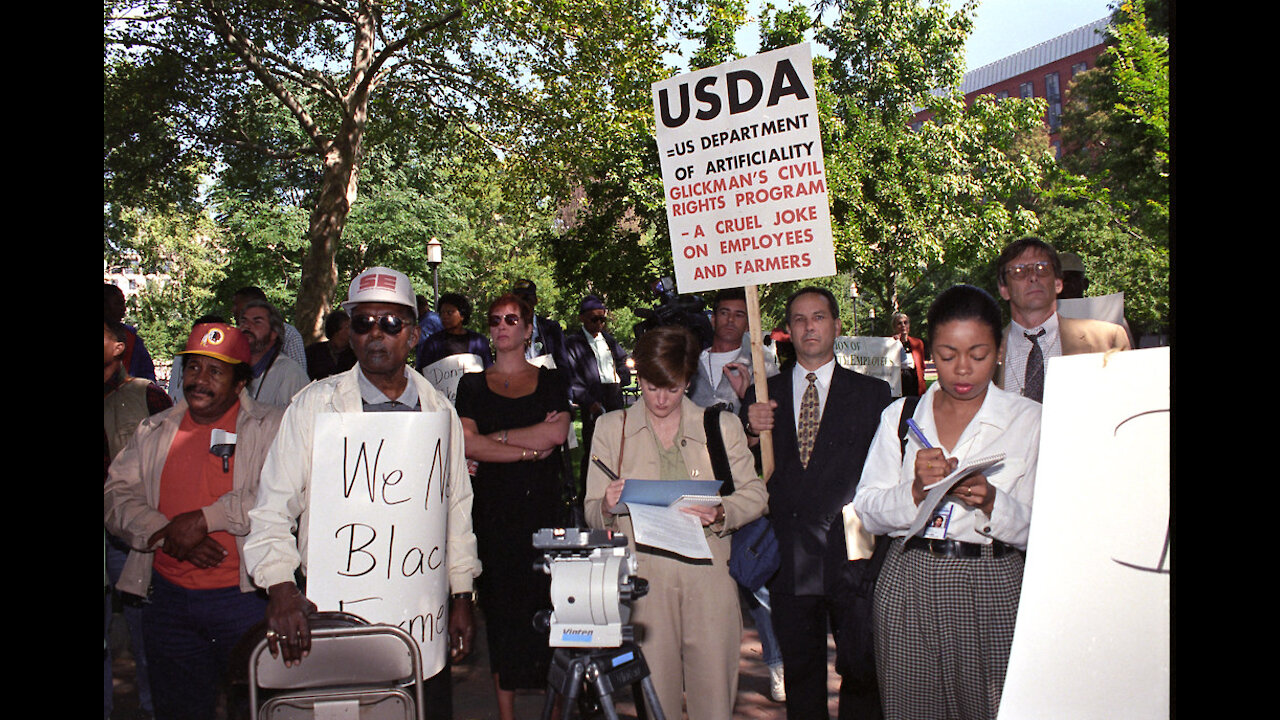
M193 591L152 574L142 632L156 720L212 720L232 650L265 616L262 593Z

